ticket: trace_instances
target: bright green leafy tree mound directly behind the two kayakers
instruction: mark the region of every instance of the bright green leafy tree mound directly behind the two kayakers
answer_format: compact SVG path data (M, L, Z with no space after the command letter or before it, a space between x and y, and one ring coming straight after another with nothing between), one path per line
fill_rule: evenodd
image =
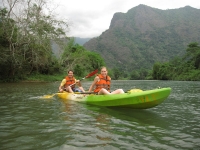
M68 40L68 44L62 53L61 59L64 68L76 69L78 75L81 76L105 64L98 53L88 51L83 46L75 44L74 38Z

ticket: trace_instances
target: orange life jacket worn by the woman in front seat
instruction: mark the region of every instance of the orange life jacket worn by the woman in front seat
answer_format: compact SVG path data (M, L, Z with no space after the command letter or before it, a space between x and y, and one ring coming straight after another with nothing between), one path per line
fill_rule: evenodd
M104 78L101 74L99 74L98 77L100 80L96 82L96 88L94 92L98 93L102 88L110 92L111 78L109 76L106 76L106 78Z

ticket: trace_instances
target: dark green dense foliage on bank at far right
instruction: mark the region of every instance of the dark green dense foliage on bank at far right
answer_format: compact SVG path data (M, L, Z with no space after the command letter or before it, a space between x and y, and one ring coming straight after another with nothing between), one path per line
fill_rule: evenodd
M190 43L183 57L176 57L166 63L155 63L153 79L200 81L200 46Z

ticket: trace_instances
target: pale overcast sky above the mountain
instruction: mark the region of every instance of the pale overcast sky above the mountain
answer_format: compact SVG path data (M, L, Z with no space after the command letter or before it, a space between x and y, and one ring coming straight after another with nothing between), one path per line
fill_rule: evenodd
M69 24L69 37L93 38L109 29L113 15L126 13L140 4L162 10L191 6L200 9L199 0L53 0L59 19Z

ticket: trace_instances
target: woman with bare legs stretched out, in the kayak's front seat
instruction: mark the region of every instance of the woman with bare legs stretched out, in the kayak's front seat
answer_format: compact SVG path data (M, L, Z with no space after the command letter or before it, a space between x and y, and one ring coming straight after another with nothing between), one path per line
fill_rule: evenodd
M95 93L101 94L121 94L124 93L122 89L117 89L110 92L111 78L107 75L108 71L106 67L101 68L101 74L94 78L92 85L89 88L89 92L94 90ZM95 89L94 89L95 87Z

